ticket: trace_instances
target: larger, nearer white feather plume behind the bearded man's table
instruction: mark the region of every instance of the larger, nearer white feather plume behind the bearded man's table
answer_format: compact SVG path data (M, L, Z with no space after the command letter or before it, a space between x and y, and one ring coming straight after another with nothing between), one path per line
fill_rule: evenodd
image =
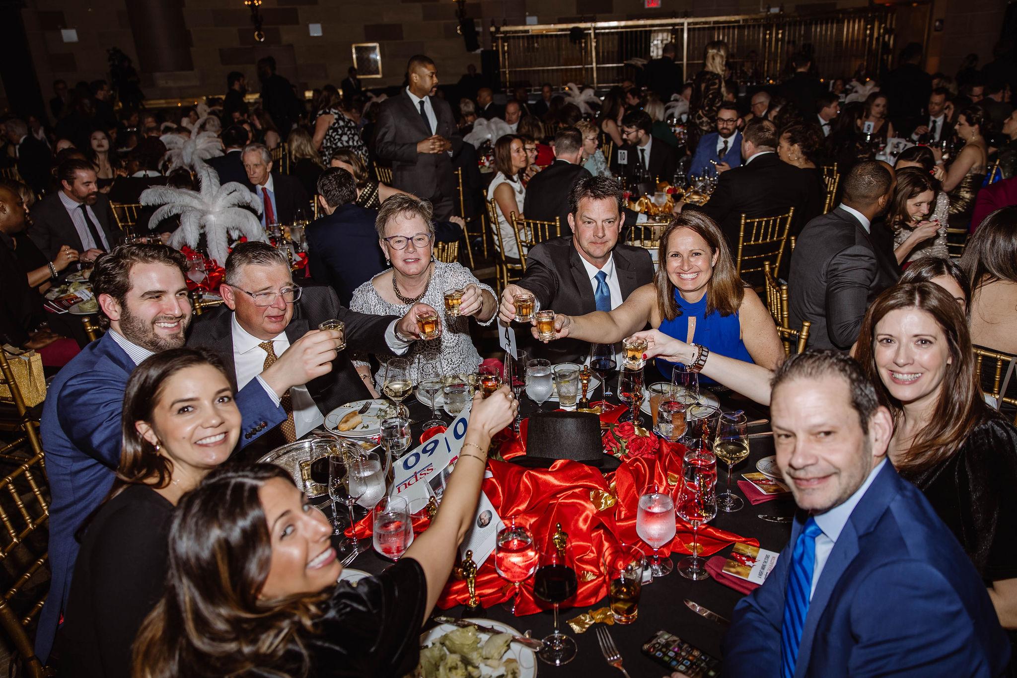
M153 186L141 193L141 204L162 205L152 215L153 224L180 215L180 228L170 236L170 245L177 249L184 245L196 247L198 236L204 233L208 257L223 265L231 239L246 237L266 242L264 229L255 215L262 209L257 196L235 181L221 186L215 170L200 160L196 165L200 190Z

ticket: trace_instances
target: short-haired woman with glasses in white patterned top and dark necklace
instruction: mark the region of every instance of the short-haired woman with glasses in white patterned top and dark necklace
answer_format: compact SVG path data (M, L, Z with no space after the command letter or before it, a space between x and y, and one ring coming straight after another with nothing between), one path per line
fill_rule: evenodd
M410 359L410 378L416 381L415 358L425 352L440 353L442 367L450 374L475 372L480 365L480 354L470 337L470 318L481 325L491 323L497 311L494 291L461 264L434 259L434 224L431 203L427 200L394 195L381 203L375 225L378 244L392 268L357 288L350 308L375 315L405 315L417 303L439 309L440 335L414 342L404 356ZM464 291L460 315L456 318L443 312L444 293L451 289ZM356 355L353 362L361 376L370 373L366 356ZM383 376L375 374L376 390L380 390Z

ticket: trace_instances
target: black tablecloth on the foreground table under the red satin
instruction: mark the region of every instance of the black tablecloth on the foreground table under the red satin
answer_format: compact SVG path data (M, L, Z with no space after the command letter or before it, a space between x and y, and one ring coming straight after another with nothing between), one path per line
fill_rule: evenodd
M743 410L750 421L769 417L769 412L766 408L762 408L740 396L721 393L720 399L724 411ZM414 440L419 440L421 433L420 425L430 419L430 412L415 398L411 398L410 400L406 405L410 409L411 418L415 420L413 427ZM543 409L550 410L553 407L556 407L556 404L545 403ZM524 394L521 403L523 416L525 417L533 412L535 408L535 404ZM648 418L645 415L643 418L644 423L646 423ZM445 420L448 420L447 416L445 416ZM750 433L759 433L768 430L769 423L752 427ZM732 490L743 498L744 495L735 486L736 479L740 478L742 473L755 471L756 463L770 454L773 454L772 437L767 436L751 439L749 459L734 467L735 475L731 481ZM726 465L722 466L723 470L718 470L718 490L727 481ZM762 548L771 551L780 551L790 536L790 523L764 520L759 515L789 516L793 514L793 511L794 503L790 500L770 501L756 506L753 506L745 500L741 510L733 513L719 512L711 525L745 537L755 537L759 540ZM368 549L370 549L369 546ZM730 547L723 549L719 553L720 555L728 555ZM676 562L681 557L684 556L677 554L672 556L672 560ZM381 558L373 550L368 550L366 553L359 555L351 567L376 573L390 564L390 561ZM716 622L699 616L685 607L683 600L686 598L730 619L734 605L741 598L741 594L724 584L718 583L713 578L691 581L678 574L676 570L644 587L642 600L640 601L639 619L629 625L614 624L608 627L618 651L621 653L624 668L633 678L639 678L640 676L662 676L667 673L662 666L651 661L642 653L643 643L658 630L669 631L687 642L699 646L706 653L715 657L720 656L720 641L724 633L724 628ZM596 603L593 608L605 605L607 605L606 598ZM565 631L573 634L565 620L589 609L592 608L567 608L563 606L559 612L560 625ZM463 607L456 607L446 611L435 609L434 613L460 617L463 615ZM550 608L545 613L514 617L500 605L495 605L484 610L481 614L489 619L515 626L522 632L530 630L535 638L541 638L550 633L553 625ZM604 662L593 627L585 633L573 635L579 645L579 654L576 659L562 667L553 667L539 663L538 675L621 675Z

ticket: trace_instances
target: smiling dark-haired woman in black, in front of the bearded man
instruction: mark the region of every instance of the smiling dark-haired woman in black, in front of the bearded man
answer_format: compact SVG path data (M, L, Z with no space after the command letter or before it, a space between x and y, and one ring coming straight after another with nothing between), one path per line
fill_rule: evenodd
M122 421L117 478L86 521L53 653L66 675L131 675L134 635L165 591L173 507L240 437L226 369L197 349L142 361L127 382Z

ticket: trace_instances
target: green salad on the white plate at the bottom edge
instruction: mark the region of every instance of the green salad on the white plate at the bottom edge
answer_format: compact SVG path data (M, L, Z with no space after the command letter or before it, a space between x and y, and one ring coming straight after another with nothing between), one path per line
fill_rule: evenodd
M484 636L489 636L486 639ZM420 650L419 678L519 678L519 661L505 658L512 635L457 628ZM487 669L484 671L484 669Z

